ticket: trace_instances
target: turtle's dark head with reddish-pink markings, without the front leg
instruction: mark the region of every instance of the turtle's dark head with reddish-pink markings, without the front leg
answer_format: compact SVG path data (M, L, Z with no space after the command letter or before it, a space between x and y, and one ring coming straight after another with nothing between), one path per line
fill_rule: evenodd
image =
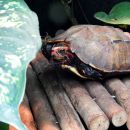
M42 46L42 53L49 61L61 64L69 62L73 57L69 44L65 41L47 41Z

